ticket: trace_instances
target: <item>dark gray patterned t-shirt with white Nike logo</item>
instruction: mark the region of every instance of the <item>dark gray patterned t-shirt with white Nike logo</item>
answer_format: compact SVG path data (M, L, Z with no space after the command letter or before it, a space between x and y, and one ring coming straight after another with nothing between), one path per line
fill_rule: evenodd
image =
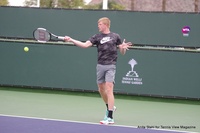
M96 34L89 41L97 45L98 64L111 65L117 62L117 45L121 44L121 38L116 33Z

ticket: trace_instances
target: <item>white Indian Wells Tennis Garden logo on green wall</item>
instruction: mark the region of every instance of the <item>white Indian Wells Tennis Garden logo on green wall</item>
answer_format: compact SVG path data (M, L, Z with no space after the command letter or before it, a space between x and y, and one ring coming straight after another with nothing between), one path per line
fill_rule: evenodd
M142 78L140 78L138 73L134 71L134 67L137 65L137 61L131 59L128 64L131 66L131 70L128 71L124 77L122 77L122 84L142 85Z

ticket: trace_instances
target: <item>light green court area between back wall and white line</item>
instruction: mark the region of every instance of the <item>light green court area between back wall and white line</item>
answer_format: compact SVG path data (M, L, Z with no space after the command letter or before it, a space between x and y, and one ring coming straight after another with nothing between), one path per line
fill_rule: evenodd
M116 95L116 125L200 132L200 102ZM0 114L98 123L97 93L0 88Z

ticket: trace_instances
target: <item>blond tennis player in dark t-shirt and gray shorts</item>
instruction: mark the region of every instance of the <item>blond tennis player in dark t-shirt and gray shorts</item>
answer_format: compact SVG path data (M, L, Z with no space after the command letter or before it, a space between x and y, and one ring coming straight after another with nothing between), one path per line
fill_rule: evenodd
M98 29L100 33L93 35L86 42L75 40L69 36L65 36L64 40L67 42L72 42L76 46L82 48L88 48L92 45L97 46L97 85L99 93L107 107L105 117L102 121L100 121L100 123L107 125L114 124L113 88L116 72L117 47L119 47L120 53L124 55L132 43L125 43L125 40L122 42L120 36L117 33L110 31L110 19L107 17L103 17L98 20Z

